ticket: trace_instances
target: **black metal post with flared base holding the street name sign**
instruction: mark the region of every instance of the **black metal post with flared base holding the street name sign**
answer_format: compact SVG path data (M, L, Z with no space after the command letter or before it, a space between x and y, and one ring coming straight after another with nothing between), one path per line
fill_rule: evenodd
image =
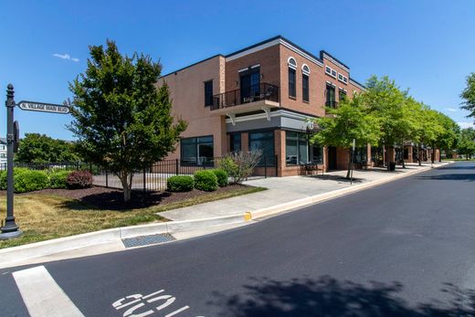
M14 206L13 206L13 147L15 142L13 127L13 111L15 108L15 91L12 84L8 84L6 89L6 217L5 225L1 227L0 239L16 238L22 232L19 230L15 222Z

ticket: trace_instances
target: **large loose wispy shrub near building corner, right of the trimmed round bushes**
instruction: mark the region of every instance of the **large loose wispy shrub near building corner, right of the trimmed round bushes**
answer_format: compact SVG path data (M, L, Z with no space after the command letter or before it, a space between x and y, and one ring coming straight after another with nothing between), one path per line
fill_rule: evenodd
M262 152L259 150L228 153L217 165L227 172L233 184L240 184L252 174L254 167L259 164L261 156Z

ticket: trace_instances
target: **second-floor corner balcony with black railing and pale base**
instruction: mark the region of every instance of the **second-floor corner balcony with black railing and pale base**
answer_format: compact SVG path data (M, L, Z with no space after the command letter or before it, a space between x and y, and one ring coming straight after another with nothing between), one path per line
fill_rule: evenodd
M214 95L210 109L213 114L223 115L262 110L263 107L280 107L278 86L260 83Z

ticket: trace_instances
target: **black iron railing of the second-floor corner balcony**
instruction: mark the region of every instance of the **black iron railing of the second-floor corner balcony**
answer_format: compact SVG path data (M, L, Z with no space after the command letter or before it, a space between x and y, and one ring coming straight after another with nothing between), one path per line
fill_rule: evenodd
M259 100L279 102L279 87L263 82L259 85L251 85L214 95L211 110L234 107Z

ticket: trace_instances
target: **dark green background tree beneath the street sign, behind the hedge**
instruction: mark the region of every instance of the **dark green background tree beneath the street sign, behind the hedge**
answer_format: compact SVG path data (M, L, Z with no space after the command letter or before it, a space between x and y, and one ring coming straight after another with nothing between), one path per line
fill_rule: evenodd
M80 156L74 143L56 140L45 134L26 133L20 140L16 162L20 163L59 163L78 162Z

